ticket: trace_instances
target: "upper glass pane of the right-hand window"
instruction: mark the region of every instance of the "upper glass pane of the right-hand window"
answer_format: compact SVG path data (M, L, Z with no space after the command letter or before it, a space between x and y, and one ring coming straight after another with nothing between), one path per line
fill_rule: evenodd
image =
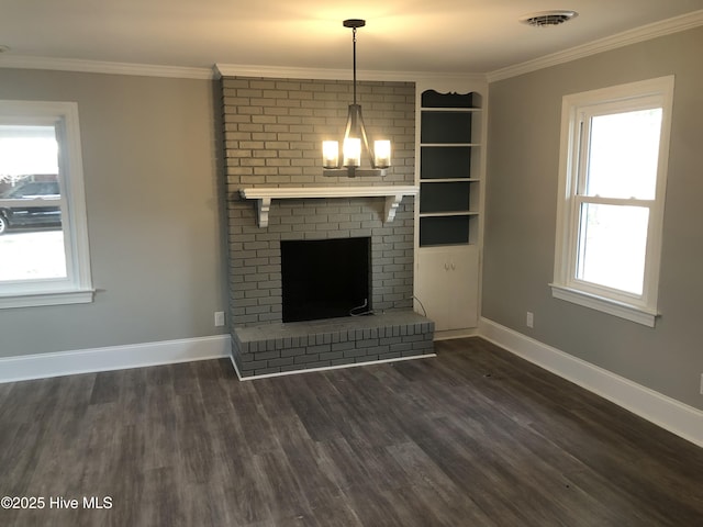
M591 119L585 195L654 200L661 109Z

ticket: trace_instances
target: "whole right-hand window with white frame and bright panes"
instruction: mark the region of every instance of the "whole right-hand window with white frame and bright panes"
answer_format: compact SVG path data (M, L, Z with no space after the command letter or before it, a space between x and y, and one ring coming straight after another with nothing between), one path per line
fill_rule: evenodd
M654 327L673 77L563 98L555 298Z

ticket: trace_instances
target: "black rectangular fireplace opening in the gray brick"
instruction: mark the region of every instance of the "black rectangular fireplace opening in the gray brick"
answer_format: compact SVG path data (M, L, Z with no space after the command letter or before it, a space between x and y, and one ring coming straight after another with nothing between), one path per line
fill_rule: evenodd
M371 238L281 242L283 322L371 311Z

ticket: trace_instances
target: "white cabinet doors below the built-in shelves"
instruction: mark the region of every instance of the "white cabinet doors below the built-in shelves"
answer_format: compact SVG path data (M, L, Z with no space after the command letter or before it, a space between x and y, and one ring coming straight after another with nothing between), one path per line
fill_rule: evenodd
M421 248L415 271L415 296L435 322L435 330L477 326L478 247Z

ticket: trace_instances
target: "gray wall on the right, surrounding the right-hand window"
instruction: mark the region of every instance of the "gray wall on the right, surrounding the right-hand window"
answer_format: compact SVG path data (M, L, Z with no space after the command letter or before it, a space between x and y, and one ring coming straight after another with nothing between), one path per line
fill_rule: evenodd
M490 85L482 316L703 408L703 27ZM561 98L676 75L655 328L551 298ZM535 327L525 327L525 312Z

